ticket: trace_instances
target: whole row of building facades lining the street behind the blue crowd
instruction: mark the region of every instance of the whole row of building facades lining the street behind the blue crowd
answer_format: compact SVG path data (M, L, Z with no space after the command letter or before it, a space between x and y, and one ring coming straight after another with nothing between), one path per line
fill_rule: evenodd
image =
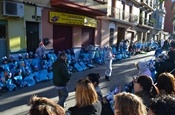
M45 40L50 42L46 48L55 53L70 48L79 52L90 43L104 47L118 46L125 39L146 42L155 36L155 2L0 0L0 47L6 48L3 55L8 55L35 52L38 43Z

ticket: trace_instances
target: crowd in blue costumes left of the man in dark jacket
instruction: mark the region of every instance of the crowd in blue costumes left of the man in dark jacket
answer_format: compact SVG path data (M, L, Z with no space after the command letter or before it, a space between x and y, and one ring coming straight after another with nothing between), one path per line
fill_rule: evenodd
M0 65L0 94L51 80L53 78L52 64L56 58L53 51L45 53L45 46L42 42L39 43L35 53L3 57Z

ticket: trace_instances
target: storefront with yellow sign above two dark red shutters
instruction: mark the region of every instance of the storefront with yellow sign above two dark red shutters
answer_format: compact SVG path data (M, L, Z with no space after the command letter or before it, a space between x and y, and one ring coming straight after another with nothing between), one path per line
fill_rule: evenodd
M50 11L49 22L53 24L53 49L56 52L94 43L97 27L94 18Z

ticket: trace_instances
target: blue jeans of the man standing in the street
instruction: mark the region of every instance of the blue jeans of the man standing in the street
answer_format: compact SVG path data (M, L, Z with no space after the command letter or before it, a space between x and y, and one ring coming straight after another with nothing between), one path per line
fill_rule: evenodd
M59 98L58 104L64 108L64 102L66 101L69 94L68 87L65 86L64 88L58 89L57 91L58 91L58 98Z

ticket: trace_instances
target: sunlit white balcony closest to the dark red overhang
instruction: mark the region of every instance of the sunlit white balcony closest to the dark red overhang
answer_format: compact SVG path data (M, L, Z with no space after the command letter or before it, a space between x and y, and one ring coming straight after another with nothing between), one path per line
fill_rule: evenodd
M137 23L138 15L133 15L129 12L123 11L119 8L115 8L115 18L119 20L123 20L126 22Z

